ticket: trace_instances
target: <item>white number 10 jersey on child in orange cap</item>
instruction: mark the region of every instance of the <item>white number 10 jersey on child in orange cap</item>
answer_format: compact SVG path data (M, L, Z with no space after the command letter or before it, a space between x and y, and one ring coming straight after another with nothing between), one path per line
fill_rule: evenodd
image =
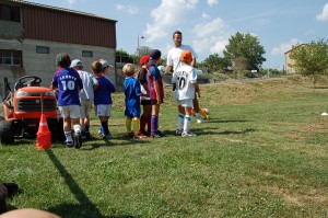
M197 72L191 66L181 64L173 72L172 83L176 83L177 100L195 99L194 83L197 83Z

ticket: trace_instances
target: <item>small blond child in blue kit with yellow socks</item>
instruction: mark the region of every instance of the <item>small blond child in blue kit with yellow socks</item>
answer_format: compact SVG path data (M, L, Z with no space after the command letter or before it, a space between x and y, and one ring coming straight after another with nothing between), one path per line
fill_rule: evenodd
M136 72L134 66L132 64L127 64L122 68L122 72L126 76L125 79L125 95L126 95L126 111L125 115L126 127L128 131L128 137L134 138L147 138L144 135L139 134L140 126L140 94L141 88L140 82L133 74ZM131 129L131 123L133 124L133 130Z

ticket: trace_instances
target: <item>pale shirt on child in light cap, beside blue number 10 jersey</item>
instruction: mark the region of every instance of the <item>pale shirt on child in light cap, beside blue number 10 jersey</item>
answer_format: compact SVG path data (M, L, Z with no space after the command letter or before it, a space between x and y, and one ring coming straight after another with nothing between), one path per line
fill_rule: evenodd
M94 90L93 85L97 82L95 77L91 72L78 70L83 83L83 89L80 91L81 101L93 101Z

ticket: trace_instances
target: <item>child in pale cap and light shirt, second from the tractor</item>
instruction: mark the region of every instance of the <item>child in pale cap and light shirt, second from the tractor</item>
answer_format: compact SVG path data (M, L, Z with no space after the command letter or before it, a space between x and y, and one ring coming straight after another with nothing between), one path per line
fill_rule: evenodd
M90 139L90 111L94 99L94 90L98 87L98 81L91 72L83 71L83 64L75 59L71 64L71 68L77 70L83 83L83 89L80 92L81 101L81 118L82 139Z

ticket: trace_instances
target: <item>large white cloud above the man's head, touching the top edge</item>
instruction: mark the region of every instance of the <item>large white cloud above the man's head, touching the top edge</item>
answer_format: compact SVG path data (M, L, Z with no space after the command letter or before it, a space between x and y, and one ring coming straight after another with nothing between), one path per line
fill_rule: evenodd
M152 22L147 24L147 42L152 43L167 36L167 28L187 21L190 10L196 9L198 0L162 0L161 5L151 11Z

